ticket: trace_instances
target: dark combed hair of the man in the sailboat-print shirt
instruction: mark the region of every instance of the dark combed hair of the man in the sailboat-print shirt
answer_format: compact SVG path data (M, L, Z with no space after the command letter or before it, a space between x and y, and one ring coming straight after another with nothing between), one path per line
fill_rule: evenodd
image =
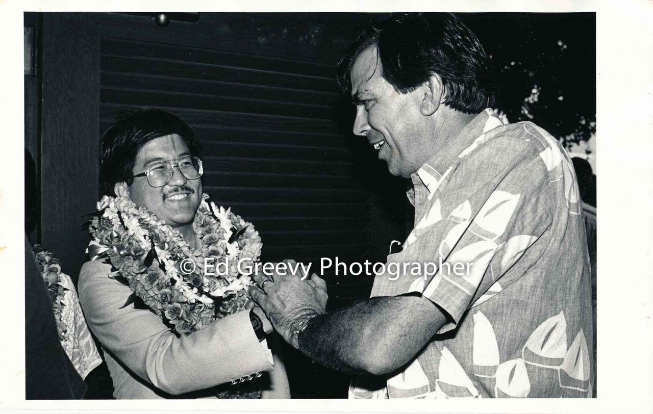
M375 47L381 75L400 93L415 90L434 74L447 92L443 103L470 113L494 104L487 56L479 39L449 13L409 13L370 27L338 64L338 83L351 92L351 69Z

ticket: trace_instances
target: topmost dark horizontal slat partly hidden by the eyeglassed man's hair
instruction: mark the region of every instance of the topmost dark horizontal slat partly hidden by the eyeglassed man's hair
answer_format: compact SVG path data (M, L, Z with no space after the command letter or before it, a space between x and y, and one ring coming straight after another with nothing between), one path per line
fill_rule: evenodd
M148 105L133 104L131 108L148 108ZM100 118L102 122L112 122L116 111L123 110L125 105L101 103ZM332 121L323 119L300 118L293 116L242 114L238 112L224 112L212 110L189 110L185 108L157 105L157 108L168 110L180 116L190 125L203 125L204 127L241 127L242 125L256 125L257 128L272 131L326 131L338 133L338 126Z

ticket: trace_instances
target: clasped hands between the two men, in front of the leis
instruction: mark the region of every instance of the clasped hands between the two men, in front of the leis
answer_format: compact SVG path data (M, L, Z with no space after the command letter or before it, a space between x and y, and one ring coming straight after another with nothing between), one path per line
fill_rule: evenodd
M293 260L285 263L294 264ZM263 308L281 337L293 345L295 326L305 317L323 315L327 307L327 282L316 274L306 280L298 272L272 276L256 274L257 285L249 288L249 295Z

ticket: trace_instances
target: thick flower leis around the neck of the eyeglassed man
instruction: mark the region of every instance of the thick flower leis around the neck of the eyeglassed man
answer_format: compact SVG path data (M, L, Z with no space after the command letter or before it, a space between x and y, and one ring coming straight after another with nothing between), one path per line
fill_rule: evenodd
M251 223L231 208L218 207L206 194L193 230L201 245L195 251L178 231L129 197L104 196L89 225L93 240L87 251L91 260L108 260L114 270L110 277L133 291L123 307L134 303L150 309L173 332L190 334L244 309L252 281L240 275L237 263L251 259L241 267L253 266L263 246ZM206 272L205 259L212 259L207 264L215 266Z

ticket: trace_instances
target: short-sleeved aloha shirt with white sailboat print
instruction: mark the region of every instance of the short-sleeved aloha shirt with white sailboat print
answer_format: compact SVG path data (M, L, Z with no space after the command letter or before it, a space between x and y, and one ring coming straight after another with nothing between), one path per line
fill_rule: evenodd
M415 227L388 257L400 272L371 296L419 292L450 322L399 374L355 377L350 398L591 397L590 262L564 148L487 109L434 153L411 177Z

